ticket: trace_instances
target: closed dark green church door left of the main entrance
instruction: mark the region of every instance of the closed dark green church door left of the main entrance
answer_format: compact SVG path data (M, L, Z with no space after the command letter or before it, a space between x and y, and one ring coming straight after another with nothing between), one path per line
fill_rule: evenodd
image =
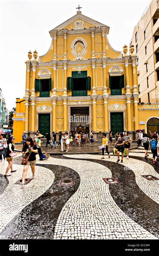
M39 114L39 131L44 136L50 134L50 114Z

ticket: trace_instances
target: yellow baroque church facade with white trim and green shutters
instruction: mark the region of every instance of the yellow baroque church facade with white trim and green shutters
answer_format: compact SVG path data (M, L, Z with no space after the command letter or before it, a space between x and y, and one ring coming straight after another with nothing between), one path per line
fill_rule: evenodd
M36 51L29 52L25 62L25 96L16 99L13 116L16 142L24 130L31 137L36 130L43 135L93 130L95 140L110 130L128 130L134 138L135 130L146 132L159 106L138 103L133 45L129 54L126 45L124 54L115 51L107 38L109 27L81 11L49 33L48 52L38 60Z

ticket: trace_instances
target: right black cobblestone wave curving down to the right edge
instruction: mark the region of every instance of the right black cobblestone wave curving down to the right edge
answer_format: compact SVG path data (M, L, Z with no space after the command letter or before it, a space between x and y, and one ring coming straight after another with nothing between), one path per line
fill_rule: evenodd
M53 157L53 156L52 156ZM56 158L66 159L64 156ZM71 158L83 160L79 158ZM137 159L137 157L134 157ZM110 161L85 159L86 161L99 163L106 166L112 172L112 177L119 181L118 184L109 185L109 191L115 203L132 220L141 225L147 231L158 237L158 204L149 198L137 185L135 174L132 170L124 170L124 165ZM139 159L141 160L141 159ZM144 158L144 160L147 160ZM151 160L151 159L150 159ZM126 169L126 167L125 167ZM109 178L109 177L105 177ZM103 181L104 182L104 181Z

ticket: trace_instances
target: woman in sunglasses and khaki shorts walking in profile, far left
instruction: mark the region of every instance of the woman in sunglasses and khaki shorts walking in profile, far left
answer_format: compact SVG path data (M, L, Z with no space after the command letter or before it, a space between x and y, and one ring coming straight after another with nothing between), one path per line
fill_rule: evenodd
M8 166L4 175L5 177L11 176L11 174L8 175L9 169L11 169L11 172L16 171L16 170L13 170L13 158L10 156L10 154L14 152L14 145L13 145L14 140L15 138L13 136L10 136L7 142L8 148L6 153L6 160L8 162Z

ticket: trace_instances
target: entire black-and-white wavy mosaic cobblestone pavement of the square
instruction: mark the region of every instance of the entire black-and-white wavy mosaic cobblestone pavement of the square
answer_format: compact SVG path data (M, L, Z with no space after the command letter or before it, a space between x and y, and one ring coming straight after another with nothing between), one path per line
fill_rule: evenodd
M92 154L37 161L36 179L23 190L14 184L21 178L21 157L14 159L17 171L8 178L7 163L1 162L0 238L158 239L158 181L141 177L159 178L158 165L137 151L123 163ZM110 177L119 183L103 181ZM74 185L60 187L62 178L74 179Z

